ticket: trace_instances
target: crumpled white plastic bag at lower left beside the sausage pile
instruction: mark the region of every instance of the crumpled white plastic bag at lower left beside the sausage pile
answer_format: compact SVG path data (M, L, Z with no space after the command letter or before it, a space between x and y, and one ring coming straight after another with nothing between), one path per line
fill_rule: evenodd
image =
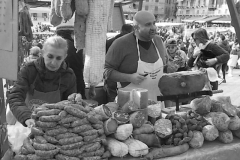
M21 123L16 122L15 125L8 125L8 141L11 149L15 153L19 153L24 139L31 133L31 129L24 127Z

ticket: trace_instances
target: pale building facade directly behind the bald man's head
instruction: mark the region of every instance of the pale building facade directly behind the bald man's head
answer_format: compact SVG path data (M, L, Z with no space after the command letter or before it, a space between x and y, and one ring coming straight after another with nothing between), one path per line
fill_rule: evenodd
M144 0L142 10L153 13L157 21L175 21L176 0ZM123 6L126 19L132 20L133 15L138 11L138 2Z

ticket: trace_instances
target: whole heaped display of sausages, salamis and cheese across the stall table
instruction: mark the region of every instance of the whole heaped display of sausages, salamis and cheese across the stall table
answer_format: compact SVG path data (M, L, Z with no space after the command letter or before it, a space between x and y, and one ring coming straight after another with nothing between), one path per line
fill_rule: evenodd
M239 109L229 97L203 96L161 109L148 91L120 90L118 102L96 106L72 97L33 112L36 126L15 158L76 160L236 160Z

